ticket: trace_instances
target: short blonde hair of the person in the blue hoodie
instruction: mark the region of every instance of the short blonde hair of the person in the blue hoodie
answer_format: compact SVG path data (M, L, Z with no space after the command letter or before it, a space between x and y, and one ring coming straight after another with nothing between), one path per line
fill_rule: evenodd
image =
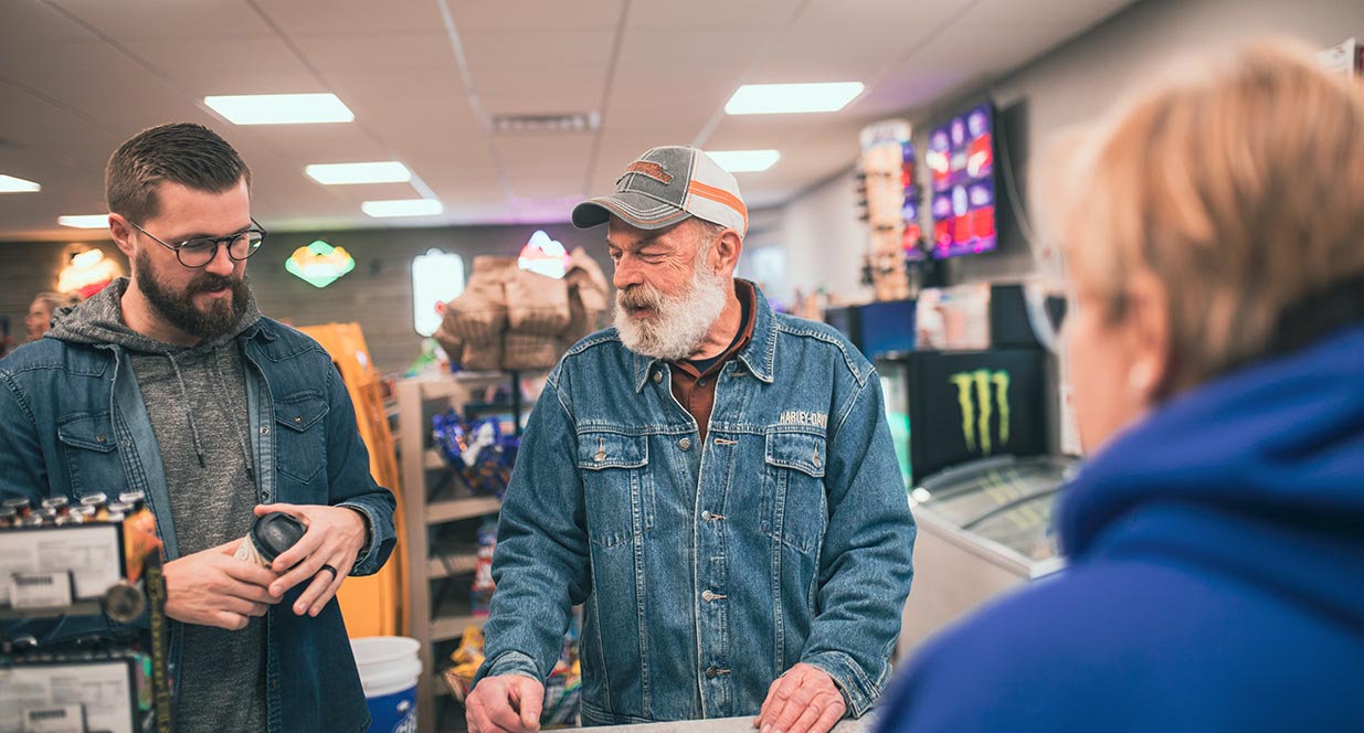
M1078 142L1049 225L1110 320L1135 272L1163 283L1166 392L1267 356L1286 309L1364 274L1364 86L1304 48L1181 67Z

